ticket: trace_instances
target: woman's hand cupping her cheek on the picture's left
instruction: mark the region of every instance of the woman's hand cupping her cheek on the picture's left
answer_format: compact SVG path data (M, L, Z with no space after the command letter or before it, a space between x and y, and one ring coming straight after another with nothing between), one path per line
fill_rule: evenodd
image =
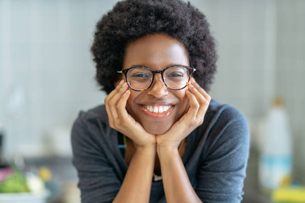
M122 80L116 89L105 98L109 125L132 139L137 146L155 146L155 135L148 133L126 110L130 94L127 83Z

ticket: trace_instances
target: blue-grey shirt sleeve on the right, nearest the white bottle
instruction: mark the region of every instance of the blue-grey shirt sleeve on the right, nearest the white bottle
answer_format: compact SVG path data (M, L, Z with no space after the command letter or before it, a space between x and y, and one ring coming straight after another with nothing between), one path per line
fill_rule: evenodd
M206 141L196 194L204 203L240 203L250 148L247 119L233 106L225 109Z

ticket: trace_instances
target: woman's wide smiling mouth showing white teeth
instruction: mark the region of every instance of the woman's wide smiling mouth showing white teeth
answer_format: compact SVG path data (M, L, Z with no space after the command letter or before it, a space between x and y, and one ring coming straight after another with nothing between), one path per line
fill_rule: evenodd
M143 105L140 104L144 114L153 119L166 118L172 112L174 105Z

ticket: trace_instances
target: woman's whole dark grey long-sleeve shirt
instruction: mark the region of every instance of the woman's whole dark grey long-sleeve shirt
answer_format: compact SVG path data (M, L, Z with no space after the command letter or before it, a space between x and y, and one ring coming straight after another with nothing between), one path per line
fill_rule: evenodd
M186 137L182 158L192 187L203 203L239 203L249 157L250 131L237 108L211 100L203 123ZM82 203L109 203L128 166L118 147L118 131L108 123L104 105L75 120L71 142ZM152 182L150 203L165 203L162 181Z

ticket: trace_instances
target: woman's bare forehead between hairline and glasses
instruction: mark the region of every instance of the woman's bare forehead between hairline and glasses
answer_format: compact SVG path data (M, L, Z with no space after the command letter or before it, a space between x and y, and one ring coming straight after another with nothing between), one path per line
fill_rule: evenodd
M162 70L171 64L189 66L189 61L181 42L164 34L152 34L131 42L126 48L123 68L139 64Z

